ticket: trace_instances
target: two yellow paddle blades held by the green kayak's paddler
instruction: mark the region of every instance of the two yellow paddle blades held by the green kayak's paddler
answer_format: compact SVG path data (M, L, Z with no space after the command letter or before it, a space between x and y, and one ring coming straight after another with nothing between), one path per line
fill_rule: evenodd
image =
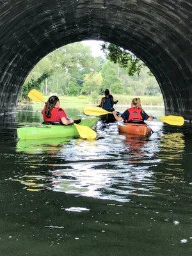
M44 102L45 99L44 96L41 92L38 92L36 89L31 90L28 93L29 99L36 101L36 102ZM89 140L94 140L97 137L97 133L93 131L90 127L85 126L85 125L78 125L74 124L77 128L77 131L79 132L79 136L83 139L89 139Z

